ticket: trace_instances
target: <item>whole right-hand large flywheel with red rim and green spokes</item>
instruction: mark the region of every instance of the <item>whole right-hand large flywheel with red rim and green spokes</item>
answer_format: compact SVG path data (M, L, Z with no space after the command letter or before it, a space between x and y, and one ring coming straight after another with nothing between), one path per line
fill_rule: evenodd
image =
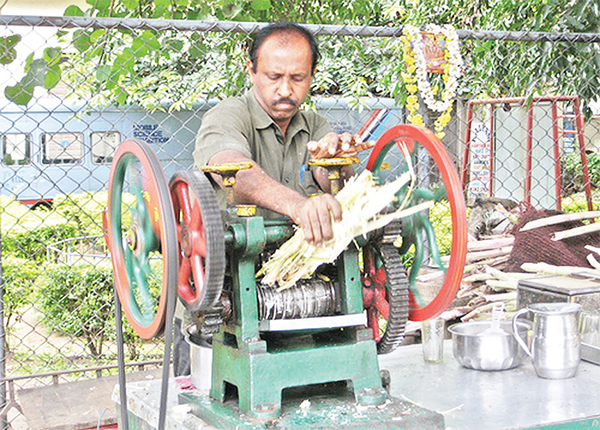
M395 242L409 268L409 318L434 318L456 296L466 260L466 205L454 164L435 134L404 124L392 127L379 139L367 169L380 183L414 171L414 188L407 185L401 189L396 205L434 202L429 210L401 220Z

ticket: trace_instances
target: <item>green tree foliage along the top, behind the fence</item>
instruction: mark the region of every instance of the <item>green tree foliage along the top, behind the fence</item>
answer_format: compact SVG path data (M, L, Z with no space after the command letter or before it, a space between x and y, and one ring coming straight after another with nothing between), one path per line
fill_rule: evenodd
M591 0L88 0L88 4L87 10L70 6L65 14L600 32L600 10ZM243 64L249 38L245 34L89 28L58 35L57 47L45 49L40 58L30 56L23 79L5 89L9 99L27 104L33 86L52 88L61 78L78 97L95 104L138 103L156 109L170 102L173 109L179 109L204 98L238 94L247 85ZM6 39L0 60L9 61L17 43ZM395 38L322 37L324 55L315 90L355 99L391 96L402 102L406 94L397 44ZM465 40L462 52L466 59L464 97L561 93L589 101L599 95L597 43Z

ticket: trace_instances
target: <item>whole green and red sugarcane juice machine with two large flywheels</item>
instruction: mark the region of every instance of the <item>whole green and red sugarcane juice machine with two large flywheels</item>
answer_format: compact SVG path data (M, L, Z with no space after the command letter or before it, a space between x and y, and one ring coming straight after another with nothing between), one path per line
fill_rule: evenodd
M167 185L148 145L128 140L119 146L105 212L117 311L122 309L145 339L164 331L167 368L176 296L192 315L194 323L187 333L191 341L210 339L212 344L208 400L190 391L180 395L181 402L209 423L226 426L223 406L231 404L227 402L233 395L237 402L225 415L237 428L239 422L232 416L282 419L283 393L295 387L342 383L344 393L351 393L346 402L375 406L395 401L382 383L377 354L391 352L401 343L409 318L438 315L454 298L466 255L466 211L452 162L442 143L425 128L401 125L388 130L366 166L385 182L398 174L394 168L413 170L423 153L441 187L428 179L410 196L402 190L397 204L406 204L409 198L447 204L452 221L449 262L441 261L428 215L418 214L356 238L335 263L279 290L277 285L262 285L256 273L292 236L294 226L288 219L265 219L256 215L255 207L235 204L236 172L251 164L181 171ZM335 193L341 185L340 169L356 161L311 164L327 168ZM226 209L217 203L209 173L222 177ZM413 261L408 274L403 265L406 254ZM441 273L432 294L419 291L417 275L426 267L437 267ZM163 391L165 378L166 372ZM165 403L161 399L161 409ZM425 410L419 414L432 420L430 428L443 426L437 414ZM161 412L164 423L163 416ZM385 428L396 428L387 427L391 422Z

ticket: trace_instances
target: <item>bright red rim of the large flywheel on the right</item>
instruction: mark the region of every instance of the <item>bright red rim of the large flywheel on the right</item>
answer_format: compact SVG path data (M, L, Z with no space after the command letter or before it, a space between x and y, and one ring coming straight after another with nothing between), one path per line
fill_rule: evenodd
M448 156L444 144L430 130L415 125L402 124L389 129L375 144L367 162L367 169L373 170L381 154L385 154L388 145L406 145L409 151L414 150L411 143L421 144L437 166L447 193L452 215L452 245L450 260L442 287L431 302L419 306L414 300L410 301L409 318L413 321L423 321L441 314L456 296L460 287L467 255L467 217L458 173Z

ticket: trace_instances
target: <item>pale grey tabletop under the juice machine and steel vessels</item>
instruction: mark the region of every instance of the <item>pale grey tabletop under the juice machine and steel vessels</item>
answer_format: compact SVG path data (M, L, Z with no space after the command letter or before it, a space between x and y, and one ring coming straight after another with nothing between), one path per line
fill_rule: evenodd
M448 430L587 429L600 427L600 366L582 361L574 378L539 378L529 359L501 372L461 367L444 345L439 364L423 361L421 345L404 346L380 356L390 371L390 394L443 414ZM136 429L158 423L158 381L128 384L129 412ZM171 381L166 428L212 429L195 417L188 405L177 404L181 388ZM118 393L113 393L118 401Z

